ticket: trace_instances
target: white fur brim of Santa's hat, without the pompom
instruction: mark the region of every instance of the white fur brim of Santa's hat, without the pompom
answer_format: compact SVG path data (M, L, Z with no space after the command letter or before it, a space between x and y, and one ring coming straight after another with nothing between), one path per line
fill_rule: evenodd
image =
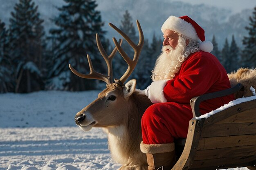
M170 16L164 22L161 31L164 33L166 29L185 35L186 37L191 38L193 40L199 39L195 31L195 28L192 26L192 24L175 16Z

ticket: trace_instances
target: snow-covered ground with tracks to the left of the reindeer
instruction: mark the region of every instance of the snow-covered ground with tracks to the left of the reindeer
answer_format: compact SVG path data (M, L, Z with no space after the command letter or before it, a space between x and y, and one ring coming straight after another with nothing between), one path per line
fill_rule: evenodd
M100 128L83 132L74 122L98 93L0 94L0 170L119 168L111 160L107 135Z

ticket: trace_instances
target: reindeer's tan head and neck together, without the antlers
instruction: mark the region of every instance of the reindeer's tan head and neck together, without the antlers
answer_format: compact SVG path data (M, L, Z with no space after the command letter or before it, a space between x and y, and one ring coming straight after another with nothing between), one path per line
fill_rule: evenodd
M80 122L82 130L101 127L108 134L112 159L122 164L120 170L146 170L146 154L140 151L141 117L152 103L146 95L135 90L136 80L118 88L115 83L99 93L98 98L76 115L85 114ZM117 99L108 100L110 95Z

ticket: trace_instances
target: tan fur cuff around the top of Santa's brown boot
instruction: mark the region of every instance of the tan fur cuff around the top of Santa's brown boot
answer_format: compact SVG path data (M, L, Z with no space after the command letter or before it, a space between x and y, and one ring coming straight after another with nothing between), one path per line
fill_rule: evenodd
M174 143L171 144L144 144L143 141L140 143L140 150L143 153L164 153L164 152L172 152L175 150Z

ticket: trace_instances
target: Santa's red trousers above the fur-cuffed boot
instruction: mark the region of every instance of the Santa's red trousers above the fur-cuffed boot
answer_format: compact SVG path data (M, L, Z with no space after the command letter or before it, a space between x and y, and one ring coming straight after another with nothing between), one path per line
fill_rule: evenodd
M192 118L189 104L166 102L151 105L141 119L143 143L169 144L175 138L186 138Z

